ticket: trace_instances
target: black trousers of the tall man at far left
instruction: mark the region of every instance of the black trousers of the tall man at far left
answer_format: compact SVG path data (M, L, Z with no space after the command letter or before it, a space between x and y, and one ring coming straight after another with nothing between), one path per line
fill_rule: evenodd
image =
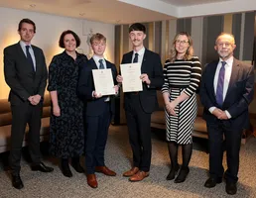
M29 125L29 151L33 164L39 164L40 152L40 129L43 112L43 102L33 106L28 102L19 105L11 105L12 110L12 130L11 130L11 150L10 166L12 174L19 174L21 165L21 149L24 139L25 129Z

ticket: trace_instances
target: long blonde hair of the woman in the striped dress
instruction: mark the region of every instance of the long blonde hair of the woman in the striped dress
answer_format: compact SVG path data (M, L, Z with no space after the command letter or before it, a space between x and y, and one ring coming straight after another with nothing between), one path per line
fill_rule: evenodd
M187 32L181 32L181 33L178 33L178 34L175 36L174 40L173 40L173 43L172 43L173 46L172 46L172 49L171 49L171 57L170 57L170 61L171 61L171 62L174 62L174 61L176 60L176 58L177 58L178 52L177 52L177 50L176 50L176 48L175 48L175 45L176 45L176 42L177 42L179 36L186 36L186 37L188 38L188 40L189 40L189 45L190 45L190 46L189 46L189 48L187 49L187 51L186 51L186 53L185 53L185 55L184 55L184 59L185 59L185 60L192 59L192 54L193 54L193 49L192 49L192 37L191 37L191 35L190 35L189 33L187 33Z

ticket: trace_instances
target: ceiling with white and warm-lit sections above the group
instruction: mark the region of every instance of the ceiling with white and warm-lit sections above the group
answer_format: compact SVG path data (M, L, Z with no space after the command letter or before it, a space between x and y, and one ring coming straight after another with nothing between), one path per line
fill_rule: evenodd
M111 24L256 10L255 0L0 0L0 7Z

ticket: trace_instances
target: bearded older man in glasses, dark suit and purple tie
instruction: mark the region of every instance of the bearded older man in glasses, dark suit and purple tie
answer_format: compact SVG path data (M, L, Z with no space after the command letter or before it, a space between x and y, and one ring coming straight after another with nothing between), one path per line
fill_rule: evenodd
M223 136L227 169L224 173L226 193L235 194L239 169L242 131L248 127L248 105L253 99L254 73L251 65L233 57L234 37L220 34L215 42L218 61L209 63L202 74L200 100L209 138L209 178L207 188L222 181L224 168Z

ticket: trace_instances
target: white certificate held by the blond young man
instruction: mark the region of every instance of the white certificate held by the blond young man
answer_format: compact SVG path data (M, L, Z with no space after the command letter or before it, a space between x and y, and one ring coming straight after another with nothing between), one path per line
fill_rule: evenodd
M115 94L113 76L110 68L92 69L92 75L97 94L100 93L102 96Z

